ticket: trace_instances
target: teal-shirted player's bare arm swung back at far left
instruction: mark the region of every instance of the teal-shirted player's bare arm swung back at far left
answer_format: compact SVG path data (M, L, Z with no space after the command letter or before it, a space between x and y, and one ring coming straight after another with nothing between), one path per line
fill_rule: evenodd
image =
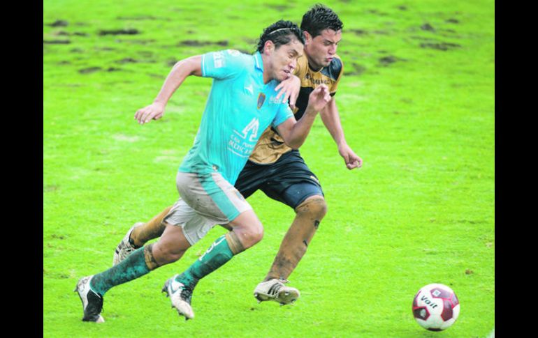
M184 79L190 75L202 76L201 55L191 56L175 63L153 103L136 111L134 118L138 123L144 124L152 121L152 119L158 120L161 118L172 94L181 86Z

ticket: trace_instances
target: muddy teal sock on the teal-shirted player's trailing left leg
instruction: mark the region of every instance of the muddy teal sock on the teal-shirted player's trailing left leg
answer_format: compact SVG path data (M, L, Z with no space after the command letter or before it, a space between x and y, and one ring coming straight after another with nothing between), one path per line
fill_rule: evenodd
M129 282L147 274L147 272L150 272L150 268L147 268L144 247L140 247L117 266L112 266L112 268L94 275L89 287L103 296L112 286Z

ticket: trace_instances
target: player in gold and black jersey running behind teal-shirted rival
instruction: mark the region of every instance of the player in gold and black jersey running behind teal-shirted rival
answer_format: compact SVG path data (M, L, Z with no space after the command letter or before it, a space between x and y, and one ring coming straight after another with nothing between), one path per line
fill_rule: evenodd
M308 95L320 84L328 86L332 100L320 112L321 120L337 144L347 169L351 170L360 168L363 161L346 142L335 102L337 85L343 73L342 60L336 54L337 45L342 39L342 26L338 15L321 4L313 6L303 15L300 29L305 34L306 43L304 55L298 59L294 70L300 79L300 92L297 98L290 98L290 105L298 119L305 112ZM160 118L161 115L145 117ZM317 176L307 167L298 150L286 146L275 129L268 128L261 135L235 187L245 198L256 190L262 190L268 197L295 210L296 217L282 240L268 274L254 289L254 296L259 301L274 300L281 304L294 302L300 295L299 291L284 283L303 258L327 212ZM119 263L137 247L161 236L164 228L162 220L170 208L149 222L134 224L119 243L113 263Z

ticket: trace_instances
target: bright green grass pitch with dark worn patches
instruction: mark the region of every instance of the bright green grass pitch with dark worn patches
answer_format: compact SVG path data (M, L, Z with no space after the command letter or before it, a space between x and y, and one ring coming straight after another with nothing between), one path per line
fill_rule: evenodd
M293 211L249 198L265 237L198 284L193 321L161 286L202 254L117 286L106 323L83 323L73 288L111 266L129 227L177 199L210 79L189 77L160 121L140 126L175 61L254 51L263 28L299 23L311 1L43 3L44 337L487 337L495 327L495 5L493 1L326 1L344 33L336 95L348 171L317 119L301 153L328 214L290 276L295 305L258 304ZM113 33L116 31L116 33ZM111 33L112 32L112 33ZM122 34L118 34L122 33ZM451 286L458 321L443 332L411 312L421 286Z

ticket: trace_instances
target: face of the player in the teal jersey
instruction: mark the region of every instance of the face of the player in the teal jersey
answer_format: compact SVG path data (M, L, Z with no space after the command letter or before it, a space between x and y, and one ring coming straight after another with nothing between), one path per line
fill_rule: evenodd
M272 52L272 78L277 81L287 79L297 67L297 59L303 55L303 43L291 39L286 45L280 45Z

